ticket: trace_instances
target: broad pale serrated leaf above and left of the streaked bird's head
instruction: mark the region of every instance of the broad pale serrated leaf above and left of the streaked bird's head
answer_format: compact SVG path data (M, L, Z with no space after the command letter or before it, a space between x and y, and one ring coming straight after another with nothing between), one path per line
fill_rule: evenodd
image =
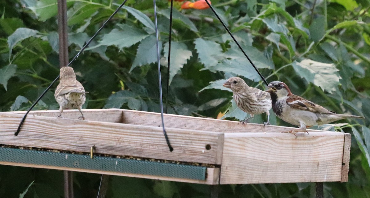
M222 48L218 43L197 38L194 44L198 57L205 67L218 64L219 59L221 59L219 56L222 54Z

